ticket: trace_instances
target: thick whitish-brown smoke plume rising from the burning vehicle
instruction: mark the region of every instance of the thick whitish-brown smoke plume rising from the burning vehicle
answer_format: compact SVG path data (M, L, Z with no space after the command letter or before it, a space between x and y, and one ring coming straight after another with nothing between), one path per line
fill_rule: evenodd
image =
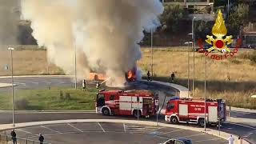
M155 30L162 12L159 0L22 0L22 18L32 22L50 62L74 74L76 47L79 78L94 70L114 85L136 66L143 30Z

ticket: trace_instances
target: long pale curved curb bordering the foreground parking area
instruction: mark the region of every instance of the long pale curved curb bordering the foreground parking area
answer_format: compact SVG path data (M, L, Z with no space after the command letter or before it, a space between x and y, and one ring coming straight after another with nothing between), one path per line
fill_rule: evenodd
M26 122L26 123L17 123L15 128L24 128L30 126L42 126L42 125L51 125L51 124L64 124L64 123L85 123L85 122L111 122L111 123L130 123L130 124L140 124L140 125L150 125L150 126L163 126L163 127L172 127L182 130L193 130L197 132L203 132L206 134L211 134L217 136L218 138L227 139L230 134L226 132L220 132L218 135L218 130L207 129L204 131L203 128L190 127L190 126L180 126L180 125L171 125L162 122L147 122L147 121L136 121L136 120L119 120L119 119L70 119L70 120L59 120L59 121L44 121L44 122ZM14 127L12 124L0 125L0 130L11 130ZM235 142L238 141L238 136L234 135ZM244 144L250 144L249 142L243 142Z

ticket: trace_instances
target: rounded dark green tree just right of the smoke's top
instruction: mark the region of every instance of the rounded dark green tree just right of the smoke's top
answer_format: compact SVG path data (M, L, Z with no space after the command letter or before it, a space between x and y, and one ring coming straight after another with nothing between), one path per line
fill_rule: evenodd
M186 12L182 6L166 4L160 20L162 25L166 25L166 31L178 32L180 22L185 17Z

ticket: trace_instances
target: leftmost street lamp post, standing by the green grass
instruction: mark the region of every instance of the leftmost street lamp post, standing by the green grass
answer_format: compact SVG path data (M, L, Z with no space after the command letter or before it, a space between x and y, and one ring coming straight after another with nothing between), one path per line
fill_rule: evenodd
M15 126L14 122L14 62L13 62L13 50L14 48L9 47L10 50L10 61L11 61L11 87L12 87L12 104L13 104L13 126Z

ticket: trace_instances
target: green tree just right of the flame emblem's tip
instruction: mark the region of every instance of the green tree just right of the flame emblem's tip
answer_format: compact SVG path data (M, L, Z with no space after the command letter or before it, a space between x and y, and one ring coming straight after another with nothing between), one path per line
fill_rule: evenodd
M234 6L226 22L230 34L239 34L241 27L246 25L248 15L249 5L241 3Z

